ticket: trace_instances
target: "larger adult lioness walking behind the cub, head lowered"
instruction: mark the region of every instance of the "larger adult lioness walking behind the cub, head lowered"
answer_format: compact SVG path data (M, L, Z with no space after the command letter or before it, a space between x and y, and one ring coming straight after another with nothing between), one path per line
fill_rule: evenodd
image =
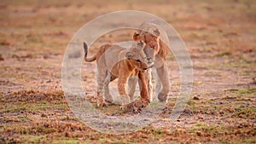
M159 101L166 102L167 94L170 90L170 83L168 78L168 72L166 67L166 56L170 54L170 49L160 39L160 27L154 24L153 21L146 21L139 26L139 31L135 32L133 35L133 40L135 42L143 41L146 43L144 47L144 52L148 59L154 63L156 68L156 90L159 92ZM152 84L151 84L151 73L147 72L145 74L148 83L148 92L152 98ZM159 83L160 81L160 83Z

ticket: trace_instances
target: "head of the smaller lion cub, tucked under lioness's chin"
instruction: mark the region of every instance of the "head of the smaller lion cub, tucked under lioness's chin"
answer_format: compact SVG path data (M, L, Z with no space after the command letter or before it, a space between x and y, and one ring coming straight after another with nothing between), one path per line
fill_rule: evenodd
M145 43L137 43L125 55L130 64L142 72L148 69L147 57L143 52L144 47Z

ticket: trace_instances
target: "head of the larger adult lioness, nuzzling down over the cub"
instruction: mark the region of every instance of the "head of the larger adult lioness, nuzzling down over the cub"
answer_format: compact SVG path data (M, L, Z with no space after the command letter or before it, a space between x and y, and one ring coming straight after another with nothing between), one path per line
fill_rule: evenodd
M139 31L133 34L133 40L144 42L144 53L147 55L148 64L154 63L154 56L160 52L160 31L155 29L153 33Z

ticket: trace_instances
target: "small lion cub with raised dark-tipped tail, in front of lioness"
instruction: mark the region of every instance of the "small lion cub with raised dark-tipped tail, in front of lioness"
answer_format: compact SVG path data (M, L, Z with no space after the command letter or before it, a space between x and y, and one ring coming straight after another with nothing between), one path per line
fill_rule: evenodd
M118 79L119 95L122 105L130 103L127 95L127 82L131 76L138 76L138 73L148 69L146 55L143 52L144 43L137 43L130 49L119 45L104 44L96 55L87 58L88 47L84 43L84 60L91 62L96 60L96 83L97 83L97 106L108 106L106 101L112 102L109 94L108 84L115 78ZM106 101L103 99L105 97Z

